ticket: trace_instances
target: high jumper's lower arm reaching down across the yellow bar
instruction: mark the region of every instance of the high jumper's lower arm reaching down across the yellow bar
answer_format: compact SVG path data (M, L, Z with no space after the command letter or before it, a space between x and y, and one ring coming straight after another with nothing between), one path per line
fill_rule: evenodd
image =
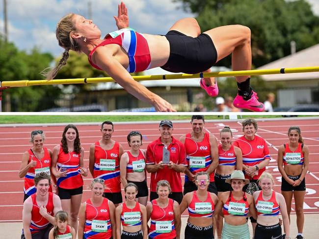
M101 69L106 71L111 78L137 99L151 104L157 111L176 111L167 101L135 81L125 68L103 47L98 48L92 58Z

